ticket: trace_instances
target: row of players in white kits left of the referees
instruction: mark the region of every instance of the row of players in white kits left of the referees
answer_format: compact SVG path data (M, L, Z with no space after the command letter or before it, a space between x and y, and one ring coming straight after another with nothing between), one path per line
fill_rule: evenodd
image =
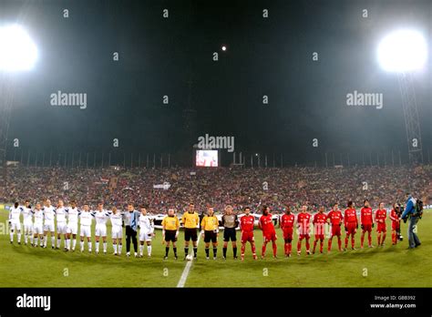
M134 210L133 205L128 205L128 211ZM63 200L58 200L57 207L51 205L51 201L46 199L44 206L40 203L35 208L31 208L29 201L26 200L24 206L19 206L15 202L14 207L9 211L10 241L13 243L14 234L16 233L17 242L21 244L21 214L23 215L24 243L30 240L33 247L40 245L46 248L48 234L51 238L51 248L60 249L61 238L64 238L64 250L75 251L77 245L77 230L79 220L80 251L84 251L84 241L87 239L88 252L92 251L91 226L93 220L95 226L95 251L99 252L99 241L102 240L103 252L107 253L107 222L111 221L111 238L114 249L114 255L120 255L122 251L123 239L123 220L127 211L118 211L117 208L104 210L102 203L98 204L97 210L90 210L85 204L82 210L78 210L77 202L72 200L70 206L66 207ZM139 255L135 252L136 257L143 256L144 242L147 243L148 256L151 256L151 238L154 236L153 219L147 214L146 208L140 209L139 215ZM57 246L55 235L55 220L57 220ZM127 240L127 255L130 255L130 241ZM39 244L40 243L40 244Z

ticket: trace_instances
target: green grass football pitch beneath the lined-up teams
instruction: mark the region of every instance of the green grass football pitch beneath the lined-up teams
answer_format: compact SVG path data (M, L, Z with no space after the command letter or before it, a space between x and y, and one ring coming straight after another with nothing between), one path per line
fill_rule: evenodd
M160 230L153 240L151 259L127 258L125 246L121 257L113 256L109 237L107 255L81 253L78 241L78 251L65 252L51 250L50 240L47 249L18 245L16 240L11 245L5 231L7 212L0 210L0 287L177 287L182 275L186 276L185 287L431 287L431 211L426 210L419 221L418 235L422 245L415 250L407 250L407 224L404 223L402 233L405 239L392 246L388 223L386 245L382 248L306 256L303 243L301 256L293 252L291 258L284 258L282 232L277 229L279 259L269 257L272 251L269 244L268 258L253 261L248 244L243 262L232 259L231 247L228 259L222 261L221 245L219 259L207 261L201 241L198 261L192 261L188 274L183 274L188 261L182 260L182 232L178 242L178 261L173 259L172 250L170 259L162 260L165 246L161 244ZM376 244L375 233L373 239ZM258 230L255 231L255 240L260 254L262 234ZM293 250L296 241L294 238ZM359 243L357 234L357 248ZM335 240L334 245L337 245Z

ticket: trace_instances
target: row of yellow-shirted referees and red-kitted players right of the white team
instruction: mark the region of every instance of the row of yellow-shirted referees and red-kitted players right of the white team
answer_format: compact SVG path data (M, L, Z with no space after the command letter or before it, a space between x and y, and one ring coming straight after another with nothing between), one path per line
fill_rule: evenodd
M293 243L293 231L298 230L299 239L297 241L297 254L301 254L302 241L305 240L306 254L311 254L311 222L314 228L314 247L312 253L315 253L318 242L320 243L320 252L324 251L324 233L325 224L328 223L331 227L330 239L328 240L327 252L332 250L333 238L337 238L338 250L342 249L342 226L345 227L345 251L348 247L349 239L351 238L351 248L355 250L355 233L359 227L359 221L356 215L354 203L348 201L347 208L342 213L338 209L338 203L334 203L332 210L328 213L324 213L324 207L321 207L314 217L307 212L308 207L304 205L297 217L292 213L291 207L287 207L285 213L279 218L279 227L283 230L284 240L284 255L290 257L292 254L292 243ZM398 204L393 206L393 210L390 213L390 220L392 220L392 243L396 244L400 236L400 207ZM182 221L185 226L185 259L189 253L189 242L192 240L194 258L197 258L197 227L198 227L198 213L193 210L193 203L190 203L189 210L185 211L182 216ZM361 235L361 249L364 248L365 235L367 233L368 247L373 248L372 245L372 229L376 224L377 232L377 243L378 246L384 246L386 240L386 219L387 211L384 207L384 203L380 203L375 213L370 208L369 201L365 199L364 207L360 210L360 226L362 229ZM250 242L252 248L252 257L254 260L257 259L255 241L253 236L254 230L254 216L251 215L251 209L246 207L244 214L237 220L237 216L232 214L231 206L227 206L225 213L222 216L223 230L223 256L222 259L226 259L227 244L232 241L232 251L234 259L237 258L237 246L236 246L236 232L235 228L239 225L242 232L242 253L241 257L244 260L244 252L246 249L247 242ZM230 225L227 227L227 223ZM277 258L277 235L273 224L273 216L270 213L270 208L267 206L262 207L262 216L259 219L259 228L262 230L263 243L262 243L262 259L265 258L265 252L267 244L272 242L273 246L273 257ZM180 222L175 216L174 210L169 210L169 215L162 221L163 226L163 241L167 242L165 250L165 259L168 259L170 251L170 242L173 245L174 257L177 259L177 247L176 241L179 235ZM209 207L207 215L201 221L201 233L204 238L206 258L209 259L209 248L210 243L213 247L213 259L216 259L217 246L218 246L218 234L219 234L219 221L214 216L213 209Z

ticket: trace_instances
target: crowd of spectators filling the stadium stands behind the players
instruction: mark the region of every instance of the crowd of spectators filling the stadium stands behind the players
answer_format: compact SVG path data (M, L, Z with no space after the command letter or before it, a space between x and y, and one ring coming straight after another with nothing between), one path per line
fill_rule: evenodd
M155 189L154 185L163 185ZM79 206L123 209L128 202L147 205L154 213L168 208L183 210L190 201L197 210L209 205L223 210L228 204L235 210L263 204L276 212L287 205L294 208L307 203L330 208L347 200L362 206L369 199L373 208L380 201L390 206L402 201L406 190L425 203L432 201L432 166L387 166L352 168L201 168L201 169L65 169L24 168L8 170L5 202L30 199L32 203L76 199Z

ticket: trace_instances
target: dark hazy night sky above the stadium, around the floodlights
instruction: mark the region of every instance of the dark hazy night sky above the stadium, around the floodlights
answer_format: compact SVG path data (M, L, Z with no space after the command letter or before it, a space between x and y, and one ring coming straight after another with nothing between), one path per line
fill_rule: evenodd
M300 162L317 150L406 151L397 77L378 66L376 47L406 26L432 47L428 0L0 4L2 24L26 26L39 50L36 67L16 76L9 139L40 151L109 151L113 138L129 152L191 151L191 139L206 133L235 137L237 152L290 153ZM415 74L424 148L432 148L431 60ZM87 93L87 108L51 106L58 90ZM347 107L355 90L384 94L384 107Z

